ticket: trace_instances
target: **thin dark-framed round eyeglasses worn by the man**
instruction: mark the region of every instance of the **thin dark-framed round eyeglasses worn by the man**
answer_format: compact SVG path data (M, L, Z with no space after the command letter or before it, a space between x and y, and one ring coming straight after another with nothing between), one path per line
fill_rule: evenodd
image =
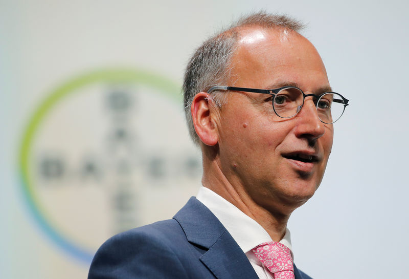
M305 97L311 96L316 106L316 111L321 122L332 124L344 113L348 105L348 99L335 92L325 92L321 95L304 94L298 87L285 86L278 89L253 89L230 86L214 86L208 90L208 94L216 90L231 90L242 92L262 93L272 96L272 108L281 118L291 118L297 115Z

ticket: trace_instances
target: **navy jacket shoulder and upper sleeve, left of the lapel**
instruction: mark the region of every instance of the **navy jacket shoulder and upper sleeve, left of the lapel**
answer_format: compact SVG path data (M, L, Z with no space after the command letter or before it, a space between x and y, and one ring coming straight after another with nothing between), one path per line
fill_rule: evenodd
M175 252L183 243L187 243L185 234L173 219L117 234L98 249L88 279L162 278L170 268L167 278L184 278Z

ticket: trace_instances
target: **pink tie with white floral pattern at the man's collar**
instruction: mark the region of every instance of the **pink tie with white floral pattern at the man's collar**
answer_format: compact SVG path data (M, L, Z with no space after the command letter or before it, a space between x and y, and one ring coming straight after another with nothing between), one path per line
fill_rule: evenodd
M290 249L279 242L270 241L253 250L263 265L274 274L274 279L294 279L294 266Z

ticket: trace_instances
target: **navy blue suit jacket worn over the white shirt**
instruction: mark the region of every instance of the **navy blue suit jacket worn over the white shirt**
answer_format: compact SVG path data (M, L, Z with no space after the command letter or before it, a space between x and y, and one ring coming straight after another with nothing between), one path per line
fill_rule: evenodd
M294 266L296 279L311 279ZM258 279L246 255L214 214L196 198L171 220L107 240L88 279Z

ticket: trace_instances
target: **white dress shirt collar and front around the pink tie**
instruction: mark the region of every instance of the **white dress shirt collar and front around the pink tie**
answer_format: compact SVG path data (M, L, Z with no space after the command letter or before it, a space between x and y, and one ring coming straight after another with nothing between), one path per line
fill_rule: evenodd
M273 279L271 273L257 259L252 249L261 243L272 241L265 229L240 209L217 195L206 187L200 187L196 197L202 204L219 219L220 223L229 231L233 239L246 254L248 261L260 279ZM291 250L290 231L286 229L281 244ZM291 251L291 256L292 251ZM293 257L294 258L294 257Z

